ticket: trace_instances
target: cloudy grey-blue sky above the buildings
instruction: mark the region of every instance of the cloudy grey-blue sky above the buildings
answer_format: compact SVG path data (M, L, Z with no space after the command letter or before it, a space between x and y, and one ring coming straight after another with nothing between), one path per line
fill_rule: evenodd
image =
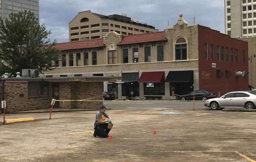
M58 43L68 42L68 23L78 12L91 10L102 15L126 13L127 17L163 31L183 13L186 22L225 33L224 0L39 0L39 21Z

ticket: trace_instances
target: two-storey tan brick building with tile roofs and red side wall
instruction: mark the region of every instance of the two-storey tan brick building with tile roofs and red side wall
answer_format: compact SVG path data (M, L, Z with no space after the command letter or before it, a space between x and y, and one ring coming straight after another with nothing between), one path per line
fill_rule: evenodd
M161 32L58 43L62 60L42 77L122 76L105 82L117 99L172 99L193 90L248 90L248 42L182 18ZM235 86L234 86L235 85Z

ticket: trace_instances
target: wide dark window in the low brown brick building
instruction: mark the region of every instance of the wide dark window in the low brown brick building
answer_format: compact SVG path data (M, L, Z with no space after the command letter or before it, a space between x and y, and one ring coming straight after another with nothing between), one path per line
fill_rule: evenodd
M49 95L48 82L28 82L28 96L47 96Z

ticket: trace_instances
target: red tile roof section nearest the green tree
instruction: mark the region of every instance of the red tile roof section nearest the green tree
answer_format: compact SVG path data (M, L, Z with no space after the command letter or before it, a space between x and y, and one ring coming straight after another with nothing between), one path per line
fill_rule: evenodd
M59 50L74 50L81 48L93 48L104 46L105 44L103 44L103 38L56 43L55 45L55 47L59 48Z

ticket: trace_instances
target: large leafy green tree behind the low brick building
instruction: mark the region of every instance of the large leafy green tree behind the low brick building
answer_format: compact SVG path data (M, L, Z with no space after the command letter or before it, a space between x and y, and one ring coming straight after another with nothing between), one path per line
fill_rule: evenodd
M11 13L10 20L0 19L0 75L16 76L22 69L38 69L39 73L54 69L60 51L51 43L44 24L31 11ZM27 74L22 74L27 75Z

